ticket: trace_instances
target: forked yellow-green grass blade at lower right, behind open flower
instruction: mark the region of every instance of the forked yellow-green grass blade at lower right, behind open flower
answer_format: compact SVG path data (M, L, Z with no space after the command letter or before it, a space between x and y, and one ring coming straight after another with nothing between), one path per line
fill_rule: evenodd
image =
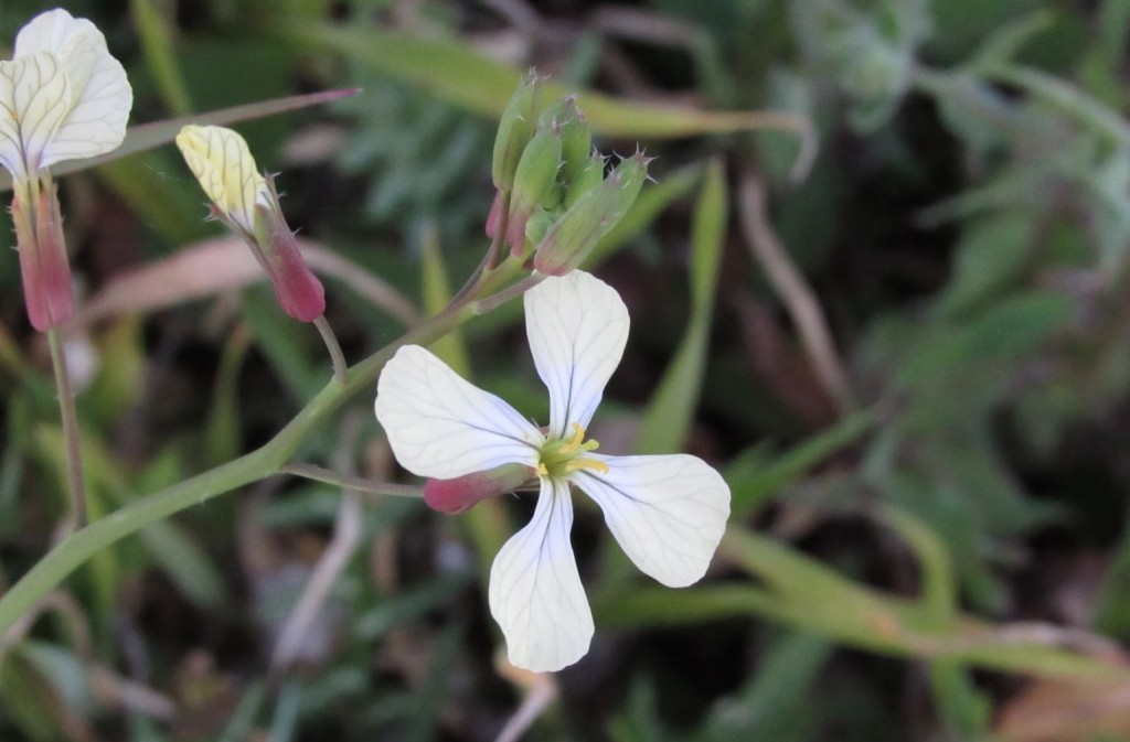
M1130 680L1125 667L1054 643L1023 640L968 616L933 625L913 600L858 585L819 561L731 525L720 551L764 587L731 584L624 590L593 604L598 626L647 628L757 616L869 652L951 660L1042 678Z

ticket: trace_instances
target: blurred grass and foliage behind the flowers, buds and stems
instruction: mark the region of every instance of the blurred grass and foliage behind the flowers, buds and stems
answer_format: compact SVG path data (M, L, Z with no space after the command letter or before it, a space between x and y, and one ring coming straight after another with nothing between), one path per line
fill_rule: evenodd
M9 630L0 739L1130 739L1130 2L62 5L123 60L134 123L363 88L238 126L325 251L351 360L480 259L521 71L582 90L602 149L659 156L590 265L633 318L593 436L706 457L733 517L671 591L582 509L598 634L539 678L501 661L484 597L529 501L446 517L273 477L99 552ZM42 9L6 0L0 38ZM263 443L329 368L268 287L233 286L172 147L61 187L106 514ZM14 255L0 285L11 585L67 504ZM546 419L519 321L441 350ZM407 481L371 395L301 453Z

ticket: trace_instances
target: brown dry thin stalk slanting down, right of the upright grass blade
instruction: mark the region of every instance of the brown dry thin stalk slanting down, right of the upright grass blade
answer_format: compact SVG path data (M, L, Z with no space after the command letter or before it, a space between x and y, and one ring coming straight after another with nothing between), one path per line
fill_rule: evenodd
M746 243L784 302L812 369L840 411L850 411L854 405L847 375L832 341L824 312L812 288L793 265L770 224L764 184L748 169L741 175L738 207Z

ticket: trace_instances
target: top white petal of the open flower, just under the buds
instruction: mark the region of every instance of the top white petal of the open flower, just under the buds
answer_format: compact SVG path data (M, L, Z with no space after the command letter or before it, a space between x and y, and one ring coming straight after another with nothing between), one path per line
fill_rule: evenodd
M549 390L550 435L588 428L628 339L620 295L583 271L547 278L525 293L525 332Z

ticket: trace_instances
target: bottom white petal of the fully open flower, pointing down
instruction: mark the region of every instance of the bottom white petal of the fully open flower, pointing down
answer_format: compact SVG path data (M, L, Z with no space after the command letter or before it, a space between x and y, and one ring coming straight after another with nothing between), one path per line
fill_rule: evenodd
M568 483L542 479L533 518L490 567L490 614L519 667L553 672L589 651L592 612L570 544L572 526Z

